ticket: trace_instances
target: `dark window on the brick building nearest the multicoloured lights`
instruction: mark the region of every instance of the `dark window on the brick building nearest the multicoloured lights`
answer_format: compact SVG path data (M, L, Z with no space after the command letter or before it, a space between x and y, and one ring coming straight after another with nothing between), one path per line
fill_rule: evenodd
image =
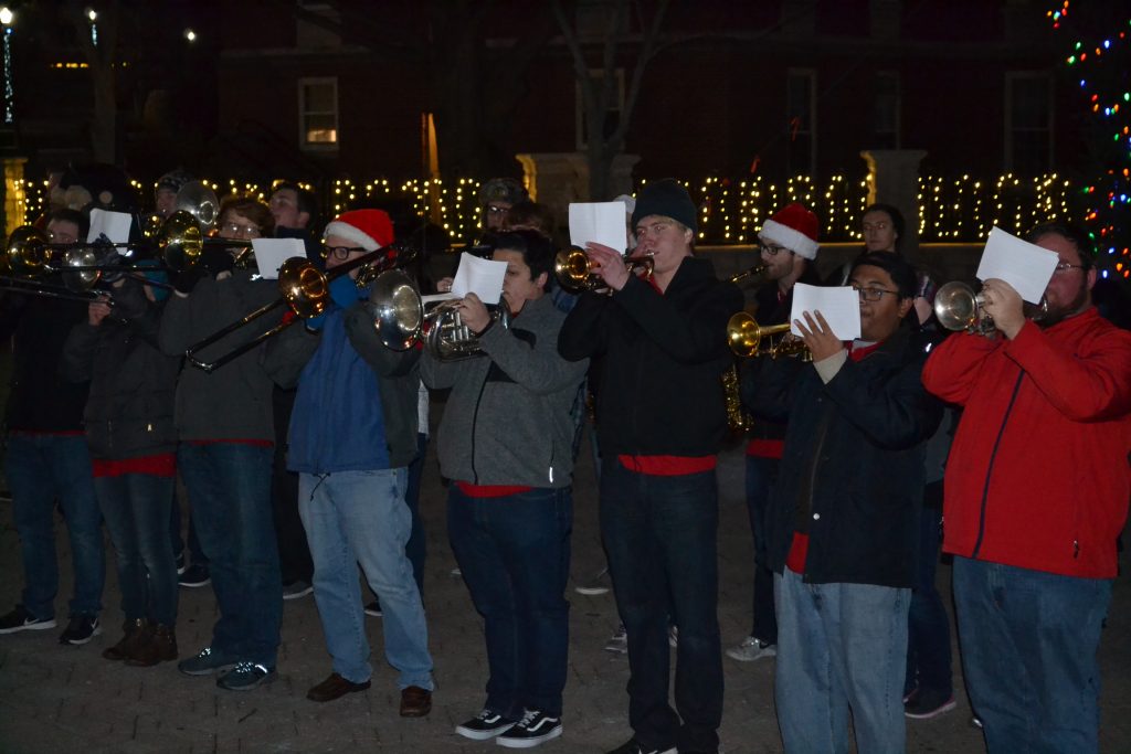
M1005 170L1039 175L1052 164L1052 78L1041 71L1005 73Z

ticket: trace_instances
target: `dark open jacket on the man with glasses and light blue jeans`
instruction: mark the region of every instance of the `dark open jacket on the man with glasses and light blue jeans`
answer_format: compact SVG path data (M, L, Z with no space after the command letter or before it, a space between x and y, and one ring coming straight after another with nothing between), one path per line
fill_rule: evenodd
M924 449L941 415L920 380L926 353L910 328L828 384L812 364L756 361L743 397L757 416L789 422L768 513L772 569L783 571L802 531L806 582L910 587Z

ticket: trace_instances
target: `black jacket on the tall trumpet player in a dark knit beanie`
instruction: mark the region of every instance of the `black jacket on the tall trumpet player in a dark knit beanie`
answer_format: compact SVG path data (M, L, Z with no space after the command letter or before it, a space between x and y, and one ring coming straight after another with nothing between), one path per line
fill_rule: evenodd
M739 288L688 257L664 295L630 277L612 296L582 294L566 318L564 358L605 356L597 434L605 457L710 456L726 435L720 375L731 363L726 321Z

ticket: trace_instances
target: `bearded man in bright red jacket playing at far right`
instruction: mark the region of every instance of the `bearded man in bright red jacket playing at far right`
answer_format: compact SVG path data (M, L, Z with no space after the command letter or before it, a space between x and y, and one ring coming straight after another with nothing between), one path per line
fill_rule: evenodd
M1131 495L1131 333L1091 305L1088 237L1027 240L1060 257L1047 312L983 288L992 337L959 335L923 382L964 407L947 463L943 549L970 702L990 752L1095 752L1096 650Z

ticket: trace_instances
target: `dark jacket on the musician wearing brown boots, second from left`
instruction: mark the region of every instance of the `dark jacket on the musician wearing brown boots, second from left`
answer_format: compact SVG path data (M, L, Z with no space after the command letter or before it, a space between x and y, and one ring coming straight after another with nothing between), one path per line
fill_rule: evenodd
M145 300L140 287L115 292L138 297L136 317L107 317L97 327L76 324L62 353L63 376L90 383L86 439L93 458L124 459L176 450L173 402L181 358L157 348L161 306Z

